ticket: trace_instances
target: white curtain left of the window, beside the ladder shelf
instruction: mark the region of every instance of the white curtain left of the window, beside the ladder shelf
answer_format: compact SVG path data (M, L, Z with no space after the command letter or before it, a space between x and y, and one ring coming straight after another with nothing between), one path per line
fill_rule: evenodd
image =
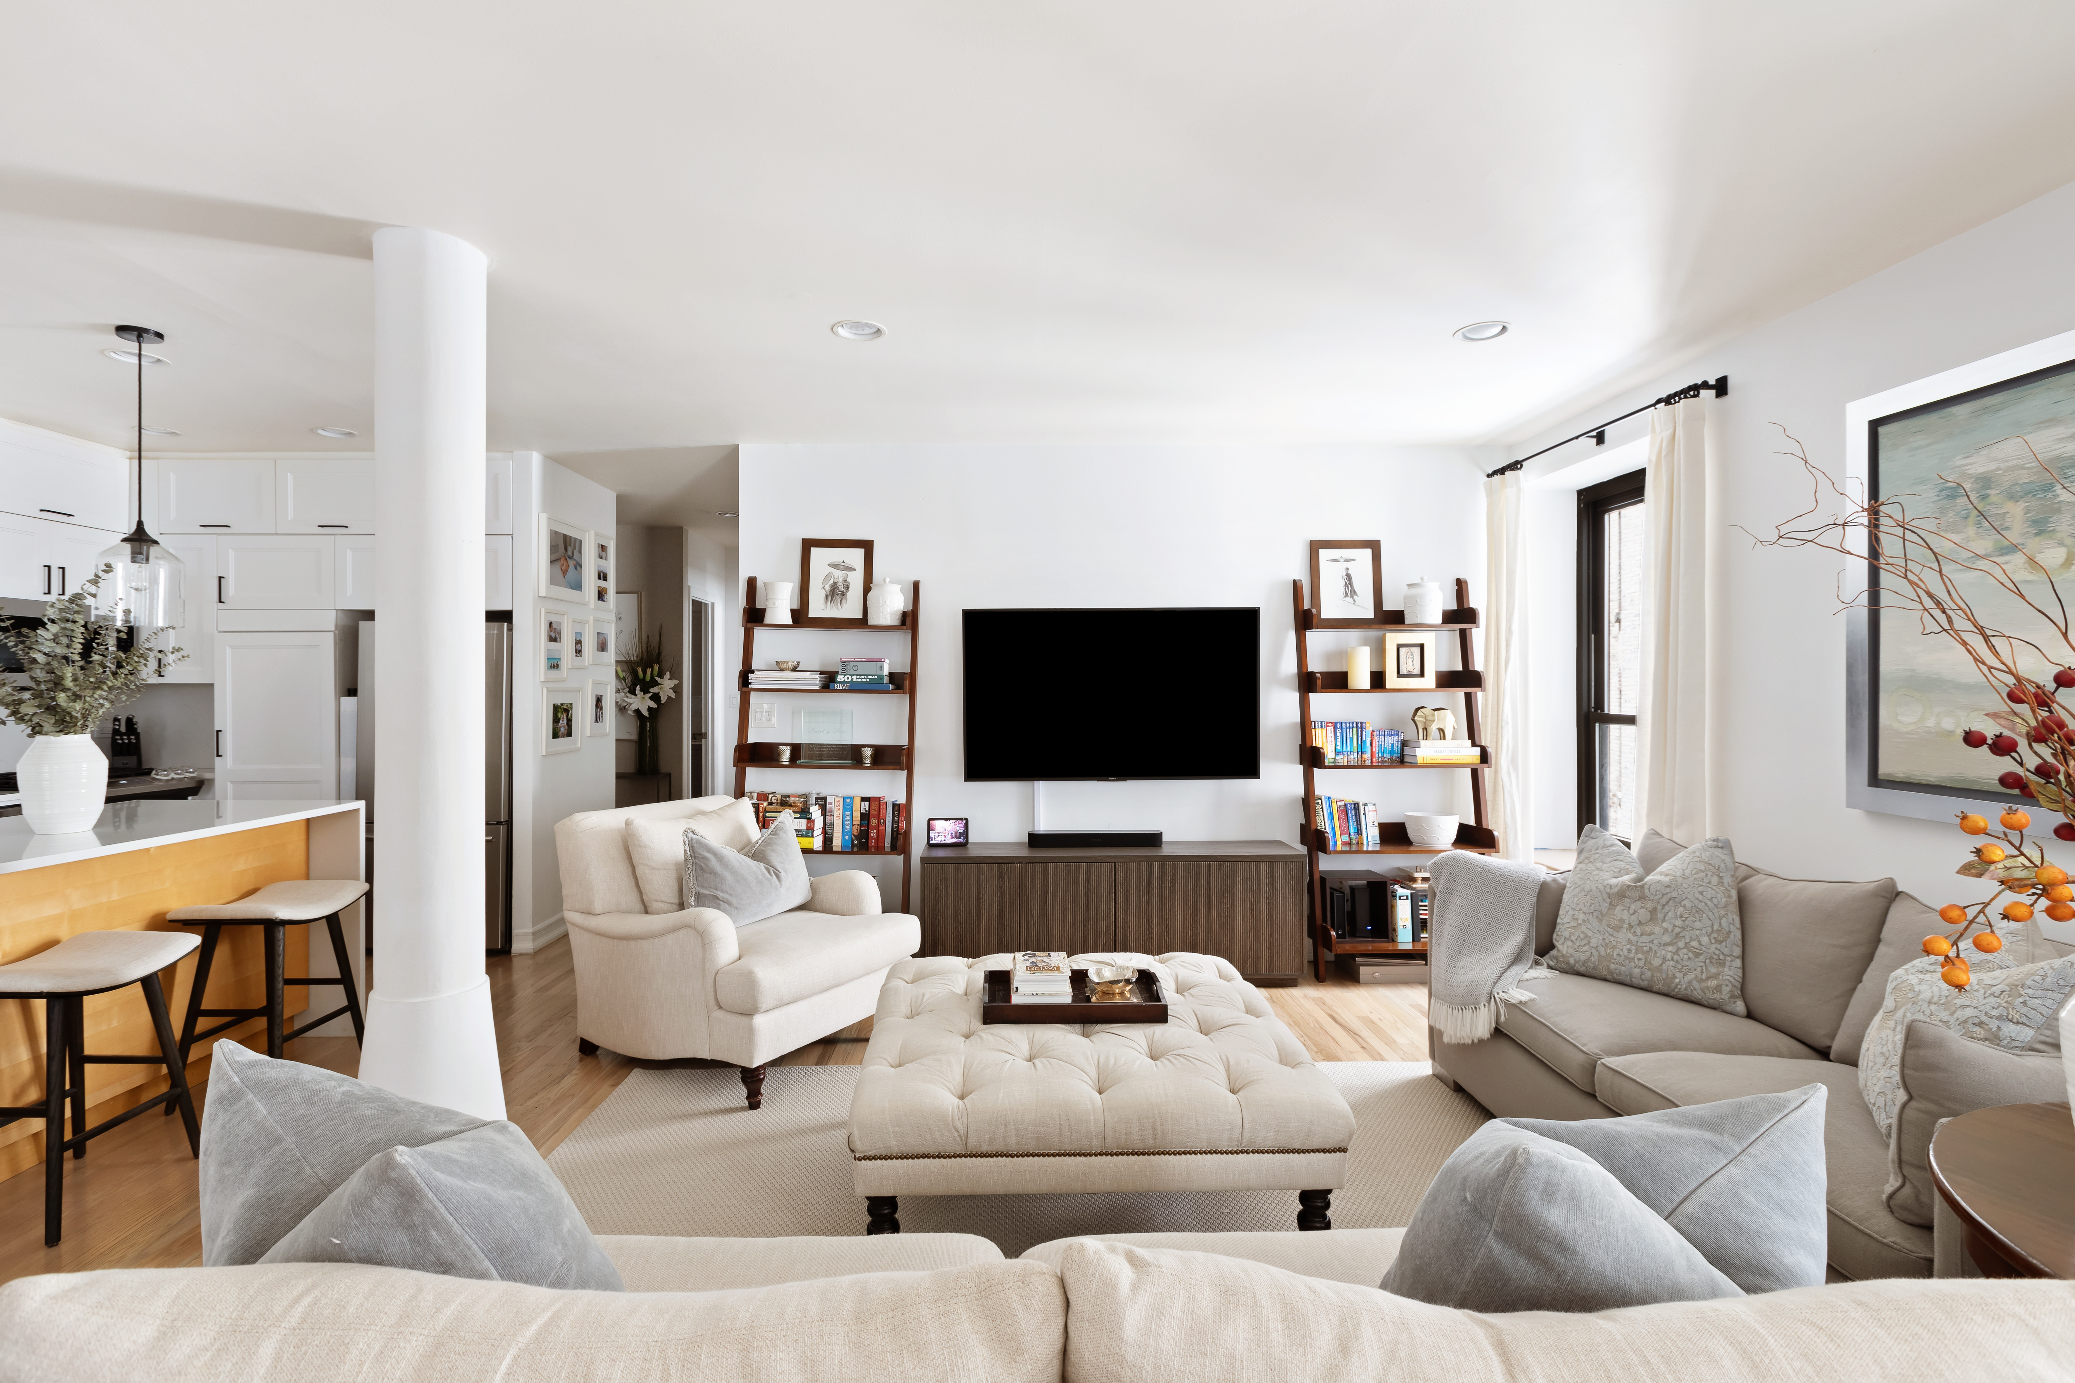
M1527 792L1527 552L1521 533L1521 473L1484 481L1484 742L1492 769L1490 821L1498 852L1533 863Z

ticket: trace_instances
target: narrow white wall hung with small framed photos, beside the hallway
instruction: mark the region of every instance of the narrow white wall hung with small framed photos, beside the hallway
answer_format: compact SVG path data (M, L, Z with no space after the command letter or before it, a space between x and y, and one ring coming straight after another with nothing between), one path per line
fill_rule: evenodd
M612 491L540 452L513 454L513 950L535 952L564 931L562 871L554 823L579 811L612 807L612 740L583 738L573 755L540 753L540 514L614 533ZM616 541L616 539L614 539ZM552 601L560 610L577 605ZM566 682L610 678L610 668L579 668Z

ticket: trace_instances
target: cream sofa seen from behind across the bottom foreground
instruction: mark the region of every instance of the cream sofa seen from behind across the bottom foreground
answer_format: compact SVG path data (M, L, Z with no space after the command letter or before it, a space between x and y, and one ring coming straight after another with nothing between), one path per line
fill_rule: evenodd
M1874 1281L1596 1315L1372 1283L1396 1230L600 1238L627 1292L386 1267L129 1269L0 1288L8 1383L1774 1383L2065 1377L2075 1286ZM1980 1329L1953 1333L1953 1323Z

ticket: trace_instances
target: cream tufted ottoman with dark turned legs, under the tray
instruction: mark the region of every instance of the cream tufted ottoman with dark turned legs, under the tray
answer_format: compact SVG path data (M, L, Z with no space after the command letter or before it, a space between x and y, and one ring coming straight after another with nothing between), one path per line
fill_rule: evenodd
M872 1018L851 1101L851 1172L867 1234L898 1234L898 1196L1075 1190L1301 1190L1301 1230L1330 1230L1355 1111L1218 956L1075 956L1139 964L1164 1024L981 1024L986 970L1008 956L901 960Z

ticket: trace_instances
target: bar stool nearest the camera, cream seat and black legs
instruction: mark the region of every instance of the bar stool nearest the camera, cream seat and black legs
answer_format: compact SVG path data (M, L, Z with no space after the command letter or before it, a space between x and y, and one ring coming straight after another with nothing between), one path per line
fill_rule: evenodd
M116 1124L135 1120L151 1105L166 1105L187 1122L187 1151L201 1157L201 1124L195 1097L187 1089L187 1062L172 1039L166 989L158 972L195 950L195 937L181 931L83 931L48 952L0 966L0 997L44 999L44 1103L0 1107L0 1126L44 1116L44 1244L56 1244L64 1230L64 1153L79 1161L87 1138L100 1138ZM158 1028L156 1057L93 1055L87 1051L87 995L127 985L143 985L151 1026ZM170 1086L133 1105L100 1128L87 1128L87 1064L164 1066ZM73 1136L64 1136L64 1101L73 1101Z

